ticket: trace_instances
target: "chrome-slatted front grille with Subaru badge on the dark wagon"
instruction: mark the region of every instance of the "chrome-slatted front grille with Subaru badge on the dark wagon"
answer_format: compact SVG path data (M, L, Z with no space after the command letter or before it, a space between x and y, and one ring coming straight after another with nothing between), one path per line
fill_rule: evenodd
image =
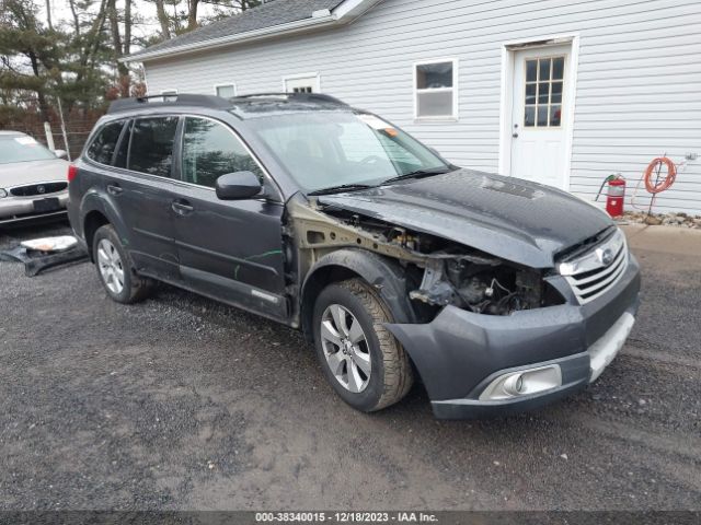
M579 304L594 301L609 291L628 267L625 235L613 235L586 254L560 264L560 273L567 280Z

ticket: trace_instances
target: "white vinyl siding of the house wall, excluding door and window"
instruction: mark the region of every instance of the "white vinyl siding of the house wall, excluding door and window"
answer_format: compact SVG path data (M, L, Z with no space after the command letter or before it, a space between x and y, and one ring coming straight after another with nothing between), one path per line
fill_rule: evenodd
M593 200L607 175L622 173L630 199L655 156L701 154L700 26L698 0L383 0L345 26L146 70L152 93L211 93L235 77L240 94L279 91L280 79L315 71L323 93L381 115L456 164L496 172L503 44L576 34L570 189ZM440 57L459 63L457 119L415 119L414 63ZM647 194L639 195L645 206ZM656 210L701 213L701 159Z

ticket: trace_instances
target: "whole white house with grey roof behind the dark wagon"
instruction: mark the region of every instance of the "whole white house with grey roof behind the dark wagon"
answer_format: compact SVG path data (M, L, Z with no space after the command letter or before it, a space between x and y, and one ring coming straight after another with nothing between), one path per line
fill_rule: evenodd
M629 210L666 154L682 165L655 209L701 213L698 0L275 0L129 60L151 94L329 93L587 199L621 173Z

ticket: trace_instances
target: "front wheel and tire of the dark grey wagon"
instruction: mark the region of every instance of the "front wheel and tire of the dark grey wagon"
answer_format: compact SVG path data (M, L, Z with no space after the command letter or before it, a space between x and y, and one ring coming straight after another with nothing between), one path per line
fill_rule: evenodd
M355 322L364 336L357 343L353 343L358 339ZM336 394L357 410L372 412L389 407L402 399L414 383L406 352L383 326L392 322L384 302L360 279L330 284L317 299L317 358ZM347 329L338 330L340 324Z

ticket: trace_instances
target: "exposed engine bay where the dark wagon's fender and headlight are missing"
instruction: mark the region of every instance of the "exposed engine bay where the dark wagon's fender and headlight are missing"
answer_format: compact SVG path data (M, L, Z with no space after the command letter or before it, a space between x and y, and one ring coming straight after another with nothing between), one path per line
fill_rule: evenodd
M295 236L306 272L342 246L363 247L397 259L405 269L407 294L417 308L453 305L478 314L509 315L561 304L564 299L540 271L430 234L332 207L291 208ZM308 255L308 257L303 257Z

